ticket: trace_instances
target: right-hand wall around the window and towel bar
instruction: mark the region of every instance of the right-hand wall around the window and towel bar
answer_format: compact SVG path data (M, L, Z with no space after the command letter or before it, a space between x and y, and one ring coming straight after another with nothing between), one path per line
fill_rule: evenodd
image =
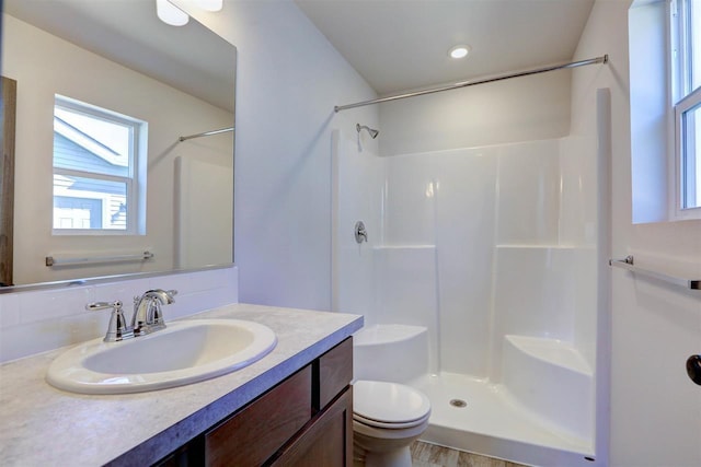
M641 266L696 279L701 221L632 223L629 7L628 0L599 0L591 10L575 59L607 52L610 62L575 70L572 130L593 132L594 90L609 87L612 255L633 254ZM619 269L610 278L610 315L599 327L601 362L611 367L610 406L599 407L598 416L610 410L611 432L610 440L597 432L599 445L610 446L611 466L701 465L701 392L685 371L687 358L701 351L701 295Z

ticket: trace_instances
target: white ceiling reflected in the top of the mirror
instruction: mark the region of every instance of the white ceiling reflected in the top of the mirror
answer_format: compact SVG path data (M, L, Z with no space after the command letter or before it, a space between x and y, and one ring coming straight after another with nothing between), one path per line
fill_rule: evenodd
M4 0L2 7L19 20L233 112L235 47L194 19L181 27L162 23L154 0Z

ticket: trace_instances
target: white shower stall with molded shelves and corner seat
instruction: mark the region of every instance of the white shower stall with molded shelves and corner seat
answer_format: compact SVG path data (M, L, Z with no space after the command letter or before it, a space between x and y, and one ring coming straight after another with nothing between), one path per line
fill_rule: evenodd
M432 401L424 441L605 465L608 90L595 101L594 132L551 140L379 156L333 132L332 306L426 329L403 381Z

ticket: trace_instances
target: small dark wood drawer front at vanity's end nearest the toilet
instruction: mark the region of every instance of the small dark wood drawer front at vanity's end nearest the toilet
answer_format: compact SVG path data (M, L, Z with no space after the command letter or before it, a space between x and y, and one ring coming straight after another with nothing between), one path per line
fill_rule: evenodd
M353 338L349 337L319 358L319 406L321 410L353 380Z

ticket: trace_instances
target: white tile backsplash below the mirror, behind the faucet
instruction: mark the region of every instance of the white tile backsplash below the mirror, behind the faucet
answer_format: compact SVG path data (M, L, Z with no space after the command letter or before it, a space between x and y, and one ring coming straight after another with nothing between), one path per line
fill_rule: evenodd
M85 311L90 302L119 300L131 317L135 295L149 289L175 289L175 303L163 307L168 324L239 301L237 267L184 272L0 295L0 363L103 336L110 310Z

